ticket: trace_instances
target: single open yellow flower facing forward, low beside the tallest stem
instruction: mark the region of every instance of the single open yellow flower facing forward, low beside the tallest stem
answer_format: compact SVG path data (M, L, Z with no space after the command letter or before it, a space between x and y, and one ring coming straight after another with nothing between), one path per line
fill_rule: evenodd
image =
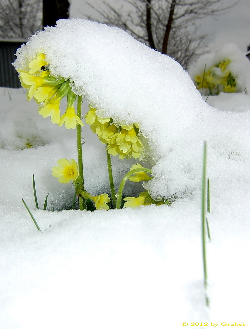
M69 183L71 180L75 181L79 176L78 165L74 159L71 162L67 159L60 159L57 161L59 166L52 168L52 175L59 178L60 183Z

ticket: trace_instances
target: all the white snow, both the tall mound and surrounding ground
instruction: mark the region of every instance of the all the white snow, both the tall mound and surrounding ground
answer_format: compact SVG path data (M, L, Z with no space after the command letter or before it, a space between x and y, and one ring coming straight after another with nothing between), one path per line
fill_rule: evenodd
M36 210L33 173L40 208L47 192L48 210L71 202L74 187L58 183L51 168L60 158L77 159L76 131L39 116L23 89L1 88L0 328L178 329L183 322L223 321L247 328L250 97L221 93L205 103L169 57L119 29L68 22L70 28L60 20L33 36L16 67L34 58L39 45L53 74L70 77L99 114L117 123L139 122L155 163L155 178L145 186L153 196L176 200L108 212ZM82 135L86 190L105 193L105 145L87 124ZM211 182L210 308L201 254L204 140ZM142 164L150 166L149 160ZM116 187L137 162L112 157ZM132 192L136 184L127 183L126 193L138 195Z

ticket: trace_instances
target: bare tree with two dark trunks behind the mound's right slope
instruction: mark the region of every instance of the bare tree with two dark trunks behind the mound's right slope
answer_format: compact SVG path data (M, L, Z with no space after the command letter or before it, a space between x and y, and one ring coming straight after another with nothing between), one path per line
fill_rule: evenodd
M129 5L115 7L102 1L92 9L102 17L100 23L117 26L161 53L170 55L187 69L205 50L206 35L197 35L195 22L207 16L218 16L235 6L226 0L123 0ZM88 16L88 19L94 20Z

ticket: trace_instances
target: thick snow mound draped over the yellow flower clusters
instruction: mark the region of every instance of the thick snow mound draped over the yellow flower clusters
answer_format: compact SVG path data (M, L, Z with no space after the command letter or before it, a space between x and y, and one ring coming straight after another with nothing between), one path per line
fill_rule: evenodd
M212 146L215 177L220 176L223 152L233 148L247 157L233 134L222 137L222 143L216 141L222 124L234 131L232 117L203 101L179 63L125 31L82 19L59 20L56 27L47 27L20 48L14 66L28 72L33 68L29 63L37 67L45 61L41 54L51 76L69 81L72 91L83 96L99 118L112 118L115 126L138 125L144 160L152 166L154 179L144 183L152 197L183 196L197 189L204 139ZM125 139L123 147L128 149L132 139ZM112 145L110 152L115 152ZM230 158L225 165L231 165Z

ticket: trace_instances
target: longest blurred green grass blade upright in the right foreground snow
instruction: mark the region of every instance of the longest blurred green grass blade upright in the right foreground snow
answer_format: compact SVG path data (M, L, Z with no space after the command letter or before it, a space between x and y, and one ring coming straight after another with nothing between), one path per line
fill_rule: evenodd
M207 259L206 259L206 163L207 163L207 143L204 142L203 167L202 167L202 192L201 192L201 232L202 232L202 256L204 272L204 288L207 290ZM206 296L206 304L209 300Z

